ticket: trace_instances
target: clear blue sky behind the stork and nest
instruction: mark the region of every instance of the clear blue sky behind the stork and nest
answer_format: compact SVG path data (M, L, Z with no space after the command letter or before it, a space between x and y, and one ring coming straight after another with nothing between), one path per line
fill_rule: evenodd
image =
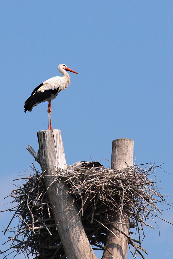
M169 174L155 172L158 186L172 194L173 1L7 0L0 9L1 204L33 161L26 147L37 151L36 132L48 129L48 103L25 113L24 102L37 85L61 76L60 63L79 73L69 72L71 85L51 107L67 164L110 160L112 141L130 138L136 164L164 163ZM4 227L10 217L0 214ZM173 223L172 208L163 218ZM160 236L153 222L154 230L145 228L146 258L173 258L173 226L156 221ZM0 234L4 250L12 234Z

